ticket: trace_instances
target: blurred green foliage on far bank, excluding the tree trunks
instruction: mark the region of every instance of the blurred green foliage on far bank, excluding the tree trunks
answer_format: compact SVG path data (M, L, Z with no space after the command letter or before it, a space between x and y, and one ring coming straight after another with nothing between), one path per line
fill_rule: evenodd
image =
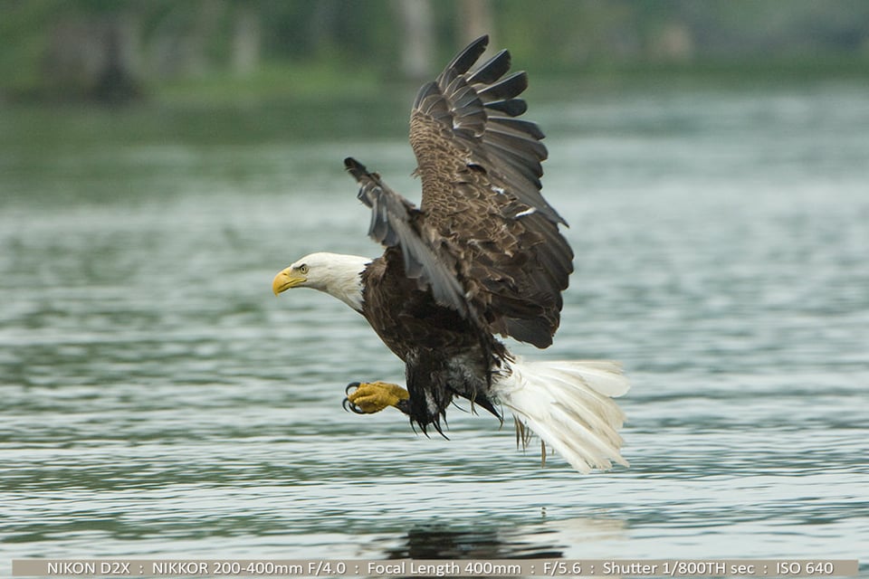
M402 77L396 66L406 42L396 15L402 1L407 0L0 0L0 95L69 90L48 71L62 26L118 19L134 29L136 76L152 96L368 90ZM437 63L465 41L465 1L428 4ZM509 46L539 76L635 75L662 68L853 75L869 64L864 0L482 3L495 42ZM253 14L259 50L253 69L238 75L231 66L233 31L243 13ZM154 63L160 38L186 46L196 66L179 58L177 69L161 70Z

